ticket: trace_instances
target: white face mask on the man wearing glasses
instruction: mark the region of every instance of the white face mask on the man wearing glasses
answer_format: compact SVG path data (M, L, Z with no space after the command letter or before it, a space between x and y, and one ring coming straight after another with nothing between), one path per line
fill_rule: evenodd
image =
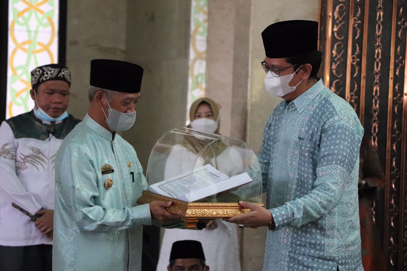
M301 66L295 72L300 70L300 68ZM290 92L293 92L302 82L301 80L300 83L298 83L297 85L293 87L289 86L289 83L293 79L295 72L292 74L280 75L276 77L277 74L269 70L269 72L267 72L266 78L264 79L264 86L266 87L267 92L271 96L278 97L282 97L289 94Z

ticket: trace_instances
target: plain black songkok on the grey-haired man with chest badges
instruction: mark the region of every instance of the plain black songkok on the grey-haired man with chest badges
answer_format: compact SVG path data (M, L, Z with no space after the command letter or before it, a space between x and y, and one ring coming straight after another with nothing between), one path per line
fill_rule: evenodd
M126 93L138 93L141 88L143 68L112 59L90 61L90 85Z

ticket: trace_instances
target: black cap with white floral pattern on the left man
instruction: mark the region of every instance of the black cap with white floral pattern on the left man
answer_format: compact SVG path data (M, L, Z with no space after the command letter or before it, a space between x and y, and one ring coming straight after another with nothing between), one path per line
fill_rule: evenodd
M48 64L31 71L31 87L35 88L41 83L50 80L61 80L71 86L71 71L61 64Z

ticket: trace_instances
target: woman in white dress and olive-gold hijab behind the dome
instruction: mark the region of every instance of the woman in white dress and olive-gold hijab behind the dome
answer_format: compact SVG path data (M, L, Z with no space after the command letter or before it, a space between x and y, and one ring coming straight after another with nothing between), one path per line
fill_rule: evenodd
M190 108L189 128L206 133L219 134L219 107L209 98L195 101ZM197 154L207 142L185 138L181 144L173 146L165 165L164 177L169 178L191 169L195 165L202 166L228 157L228 147L221 142L212 143L211 151ZM180 162L182 161L182 162ZM220 171L225 169L218 168ZM236 225L221 219L212 220L201 231L185 229L164 229L160 258L157 271L166 270L170 257L171 246L178 240L197 240L202 243L206 262L211 271L241 271L240 255L237 241Z

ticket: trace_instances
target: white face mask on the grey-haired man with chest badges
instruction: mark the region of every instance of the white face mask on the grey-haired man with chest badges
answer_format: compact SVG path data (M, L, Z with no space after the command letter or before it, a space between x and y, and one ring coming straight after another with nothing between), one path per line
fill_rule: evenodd
M105 95L105 93L103 93ZM106 98L106 95L105 95ZM109 109L107 109L107 112L109 113L109 117L106 116L105 110L103 110L103 107L101 107L103 114L105 114L106 117L106 123L109 129L112 132L116 131L126 131L130 129L131 126L133 126L134 122L136 121L136 111L133 111L131 113L122 113L119 112L112 107L110 107L109 102L107 101L107 105L109 106Z

